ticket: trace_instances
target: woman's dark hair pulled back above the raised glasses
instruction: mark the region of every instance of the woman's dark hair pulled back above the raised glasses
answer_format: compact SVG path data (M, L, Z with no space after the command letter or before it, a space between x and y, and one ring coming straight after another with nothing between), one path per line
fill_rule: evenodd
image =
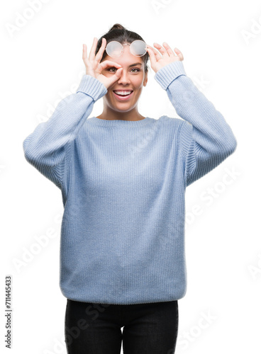
M121 44L124 44L125 42L130 44L133 42L133 40L143 40L143 38L141 38L140 35L138 35L138 33L132 32L131 30L127 30L120 23L115 23L107 33L105 33L104 35L101 36L101 38L99 38L95 50L95 55L97 54L97 52L101 47L102 38L106 39L106 45L113 40L117 40ZM145 40L143 41L145 42ZM101 62L104 60L106 55L107 55L106 50L104 50L104 54L101 58ZM144 62L145 72L148 72L147 62L150 59L148 52L146 52L146 54L143 55L143 57L141 58L143 59Z

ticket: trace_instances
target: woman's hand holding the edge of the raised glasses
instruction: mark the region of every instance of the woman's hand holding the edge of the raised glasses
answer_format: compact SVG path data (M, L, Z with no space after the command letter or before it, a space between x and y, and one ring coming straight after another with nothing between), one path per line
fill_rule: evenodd
M147 51L148 54L150 55L150 66L155 72L160 70L162 67L165 67L165 65L167 64L170 64L172 62L177 62L178 60L179 61L184 60L182 52L180 52L180 50L178 50L176 47L174 48L174 52L173 52L173 50L171 49L170 45L167 44L167 42L163 42L164 47L162 47L156 42L154 42L153 44L154 47L156 47L157 50L159 50L159 52L162 54L161 56L160 53L157 52L157 50L155 50L155 48L150 47L150 45L148 45ZM177 55L175 55L175 53Z

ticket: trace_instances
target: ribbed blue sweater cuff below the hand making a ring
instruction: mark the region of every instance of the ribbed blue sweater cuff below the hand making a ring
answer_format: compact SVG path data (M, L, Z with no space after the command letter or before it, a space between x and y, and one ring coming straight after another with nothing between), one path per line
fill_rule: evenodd
M94 102L96 102L107 93L107 89L106 86L94 76L84 75L82 76L82 80L76 92L86 93L94 99Z

